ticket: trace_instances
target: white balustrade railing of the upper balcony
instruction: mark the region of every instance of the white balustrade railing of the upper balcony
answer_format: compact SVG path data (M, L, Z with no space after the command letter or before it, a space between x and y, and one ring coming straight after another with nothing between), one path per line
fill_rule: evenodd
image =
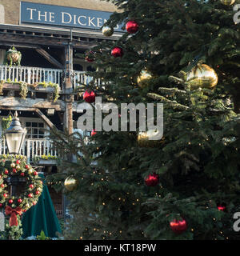
M26 82L28 84L37 84L41 82L52 82L58 84L62 90L62 73L64 70L46 69L32 66L4 66L0 65L0 80L10 82ZM82 84L88 84L93 80L85 71L73 71L73 89ZM100 79L95 81L100 84Z

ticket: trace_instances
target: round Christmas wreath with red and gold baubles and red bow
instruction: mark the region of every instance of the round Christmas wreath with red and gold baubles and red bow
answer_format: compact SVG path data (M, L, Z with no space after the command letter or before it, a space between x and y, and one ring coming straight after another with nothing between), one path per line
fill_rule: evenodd
M10 195L10 182L18 178L22 193ZM0 156L0 210L10 217L9 226L19 226L20 215L38 202L42 193L42 180L38 172L27 164L22 155Z

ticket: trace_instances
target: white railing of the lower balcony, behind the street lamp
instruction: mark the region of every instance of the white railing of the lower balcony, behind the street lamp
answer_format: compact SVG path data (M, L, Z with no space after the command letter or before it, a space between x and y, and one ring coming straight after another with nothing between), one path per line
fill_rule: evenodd
M0 154L8 154L6 141L0 140ZM22 146L21 154L25 155L28 162L32 162L34 157L41 157L42 155L58 156L57 150L54 150L52 142L46 139L26 139Z

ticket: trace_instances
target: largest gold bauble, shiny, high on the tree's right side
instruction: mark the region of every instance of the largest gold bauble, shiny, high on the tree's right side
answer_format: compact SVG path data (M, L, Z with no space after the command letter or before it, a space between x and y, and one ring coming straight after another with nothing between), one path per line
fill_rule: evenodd
M186 82L193 90L198 89L199 87L214 89L218 84L218 75L212 68L210 68L210 66L207 66L206 64L198 64L186 74Z

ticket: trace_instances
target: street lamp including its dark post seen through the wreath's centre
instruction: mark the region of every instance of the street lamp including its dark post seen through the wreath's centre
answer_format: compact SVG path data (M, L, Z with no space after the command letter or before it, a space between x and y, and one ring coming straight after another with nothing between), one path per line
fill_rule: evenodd
M4 136L6 138L6 146L9 154L20 154L26 137L26 128L22 128L17 111L15 111L14 118L10 127L5 131ZM11 176L8 178L7 182L10 185L10 195L14 195L18 183L25 182L25 180L24 178L18 178L18 176Z

